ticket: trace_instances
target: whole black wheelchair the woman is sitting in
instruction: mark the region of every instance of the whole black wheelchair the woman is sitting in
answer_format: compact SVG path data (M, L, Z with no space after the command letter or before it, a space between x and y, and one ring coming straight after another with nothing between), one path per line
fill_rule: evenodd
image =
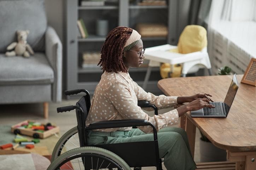
M93 122L85 125L91 99L89 92L85 89L66 90L65 95L85 93L74 106L58 107L57 112L76 110L77 126L66 132L54 147L51 165L47 170L55 169L118 169L140 170L141 167L155 166L162 170L163 160L159 158L157 130L153 124L144 119L109 120ZM158 115L156 106L148 101L138 101L140 107L151 107ZM153 128L152 141L139 141L130 143L87 145L87 134L89 130L151 126ZM150 148L150 150L149 150Z

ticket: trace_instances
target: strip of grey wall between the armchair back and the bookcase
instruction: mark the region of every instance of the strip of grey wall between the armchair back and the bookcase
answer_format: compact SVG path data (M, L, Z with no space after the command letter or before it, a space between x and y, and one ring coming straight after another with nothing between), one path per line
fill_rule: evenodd
M48 25L57 32L63 43L63 0L45 0Z

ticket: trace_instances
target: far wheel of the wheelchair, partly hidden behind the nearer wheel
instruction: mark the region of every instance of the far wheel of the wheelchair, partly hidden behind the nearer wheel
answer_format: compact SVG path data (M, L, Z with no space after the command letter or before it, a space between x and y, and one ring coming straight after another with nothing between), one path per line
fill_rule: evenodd
M52 152L51 162L53 162L53 160L55 160L61 154L78 147L80 147L80 142L77 133L77 127L75 126L67 131L58 140Z

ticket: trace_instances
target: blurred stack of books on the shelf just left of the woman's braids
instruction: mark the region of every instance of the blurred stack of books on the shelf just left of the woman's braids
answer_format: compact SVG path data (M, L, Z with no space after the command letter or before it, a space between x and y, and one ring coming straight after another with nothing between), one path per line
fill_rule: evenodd
M100 61L100 52L84 52L82 68L97 67Z

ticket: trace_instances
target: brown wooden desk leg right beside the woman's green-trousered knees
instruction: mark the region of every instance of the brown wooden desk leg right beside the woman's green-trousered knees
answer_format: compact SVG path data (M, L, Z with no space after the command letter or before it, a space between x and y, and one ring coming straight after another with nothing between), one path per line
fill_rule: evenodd
M192 157L194 158L195 140L196 140L196 126L186 117L186 132L190 145Z

